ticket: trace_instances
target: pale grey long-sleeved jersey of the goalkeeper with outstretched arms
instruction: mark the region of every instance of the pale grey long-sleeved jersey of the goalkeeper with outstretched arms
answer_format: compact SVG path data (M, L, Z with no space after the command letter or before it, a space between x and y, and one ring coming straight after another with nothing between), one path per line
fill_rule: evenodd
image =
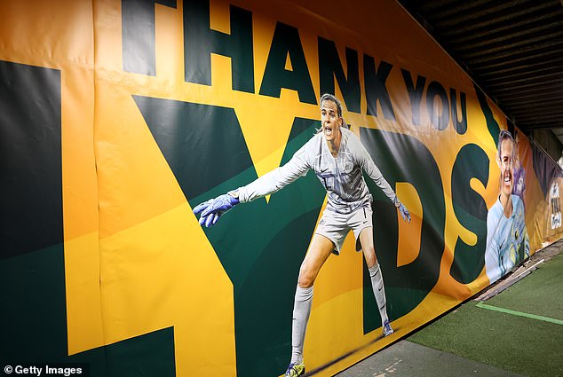
M307 171L313 169L328 192L327 209L347 214L372 200L368 185L361 174L363 169L396 204L397 195L371 160L360 139L343 127L340 131L342 139L337 157L330 153L329 145L322 134L318 133L306 142L288 163L266 173L249 185L240 187L239 200L243 203L277 192L298 177L305 177Z

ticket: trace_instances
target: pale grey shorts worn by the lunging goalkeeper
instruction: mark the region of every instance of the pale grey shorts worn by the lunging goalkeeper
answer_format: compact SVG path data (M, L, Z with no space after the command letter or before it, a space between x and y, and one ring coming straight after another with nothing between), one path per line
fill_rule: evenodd
M339 214L326 208L322 213L321 221L317 226L315 234L321 234L321 236L331 240L335 247L332 252L339 255L346 235L350 230L353 230L356 240L356 251L360 251L360 233L365 228L373 227L372 215L373 211L369 205L354 209L349 214Z

